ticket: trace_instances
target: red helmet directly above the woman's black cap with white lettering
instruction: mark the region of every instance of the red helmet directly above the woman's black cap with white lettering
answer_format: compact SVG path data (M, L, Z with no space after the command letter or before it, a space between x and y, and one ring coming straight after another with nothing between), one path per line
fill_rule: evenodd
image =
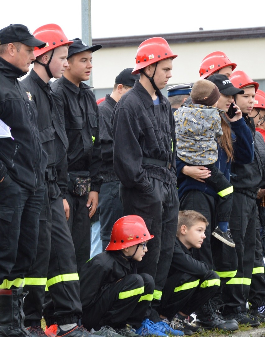
M232 67L232 71L236 68L236 64L232 63L224 52L216 51L208 54L202 60L199 74L201 79L206 79L214 72L225 68Z

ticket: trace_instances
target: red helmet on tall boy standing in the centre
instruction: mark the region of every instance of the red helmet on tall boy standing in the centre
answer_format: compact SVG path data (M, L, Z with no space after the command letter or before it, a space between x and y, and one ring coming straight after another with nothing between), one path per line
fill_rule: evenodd
M163 37L151 37L143 41L136 53L136 65L132 74L139 74L140 69L161 60L176 58L178 55L173 54L168 42Z

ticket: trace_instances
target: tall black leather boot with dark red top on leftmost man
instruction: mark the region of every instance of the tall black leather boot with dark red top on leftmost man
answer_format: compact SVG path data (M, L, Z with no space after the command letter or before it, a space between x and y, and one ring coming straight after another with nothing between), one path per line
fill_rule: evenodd
M24 327L23 288L0 289L0 337L31 337Z

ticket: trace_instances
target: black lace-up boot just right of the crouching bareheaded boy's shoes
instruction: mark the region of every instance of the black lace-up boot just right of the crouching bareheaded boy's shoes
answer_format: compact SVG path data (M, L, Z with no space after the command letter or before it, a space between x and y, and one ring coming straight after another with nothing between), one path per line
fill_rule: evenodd
M201 307L201 312L197 315L196 322L206 330L238 330L238 324L234 322L227 322L221 319L217 314L217 306L213 300L209 300Z

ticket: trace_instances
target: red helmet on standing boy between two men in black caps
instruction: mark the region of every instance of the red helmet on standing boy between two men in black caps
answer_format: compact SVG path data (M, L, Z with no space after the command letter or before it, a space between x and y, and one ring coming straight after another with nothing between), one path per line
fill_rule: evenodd
M65 36L62 28L54 23L50 23L48 25L41 26L37 28L33 35L37 39L42 39L42 41L46 42L45 47L36 48L34 50L34 56L38 57L50 50L53 50L61 45L67 44L70 45L73 41L69 41Z

